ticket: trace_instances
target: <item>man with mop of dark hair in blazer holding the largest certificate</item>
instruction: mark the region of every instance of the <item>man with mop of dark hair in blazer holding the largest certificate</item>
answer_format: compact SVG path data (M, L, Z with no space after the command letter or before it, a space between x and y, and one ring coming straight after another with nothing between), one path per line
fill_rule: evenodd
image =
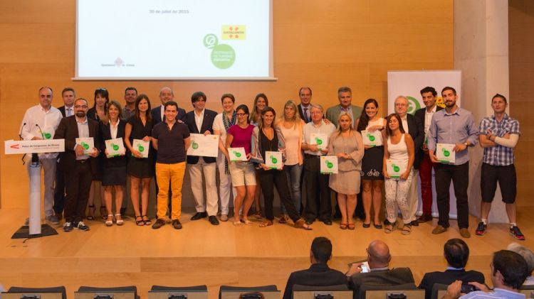
M193 111L187 112L186 123L191 134L213 134L213 121L217 112L206 109L206 94L204 92L194 92L191 96ZM192 146L194 144L192 143ZM195 209L197 214L191 218L198 220L208 217L209 223L219 225L217 212L219 211L219 197L215 182L216 163L215 157L187 156L187 166L189 177L191 178L191 189L193 191ZM204 190L202 189L202 173L206 180L206 200L204 200Z

